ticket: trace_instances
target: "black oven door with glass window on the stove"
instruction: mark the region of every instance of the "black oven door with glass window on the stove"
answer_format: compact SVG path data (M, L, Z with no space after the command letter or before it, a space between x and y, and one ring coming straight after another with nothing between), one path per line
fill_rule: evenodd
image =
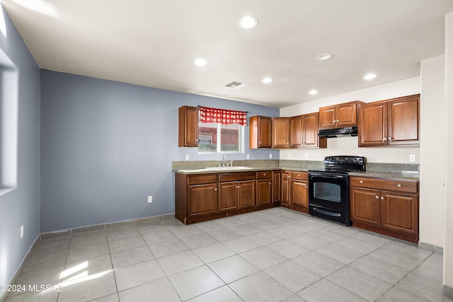
M309 171L309 205L349 211L349 175Z

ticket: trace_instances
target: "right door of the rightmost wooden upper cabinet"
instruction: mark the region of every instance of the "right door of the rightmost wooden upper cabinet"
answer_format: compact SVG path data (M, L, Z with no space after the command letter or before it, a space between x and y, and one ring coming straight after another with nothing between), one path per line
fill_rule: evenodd
M389 145L420 144L420 95L389 102Z

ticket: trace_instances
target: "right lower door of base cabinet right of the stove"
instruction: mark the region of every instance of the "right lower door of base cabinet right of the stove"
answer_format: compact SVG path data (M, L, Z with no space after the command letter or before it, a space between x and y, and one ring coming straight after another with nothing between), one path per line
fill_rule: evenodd
M418 196L382 191L381 197L382 226L418 234Z

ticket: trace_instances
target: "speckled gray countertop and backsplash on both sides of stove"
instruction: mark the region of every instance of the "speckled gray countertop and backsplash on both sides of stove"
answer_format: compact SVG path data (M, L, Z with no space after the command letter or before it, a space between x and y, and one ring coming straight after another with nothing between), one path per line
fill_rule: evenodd
M210 174L210 173L234 173L253 172L263 170L294 170L307 172L308 170L322 169L321 161L285 161L285 160L263 160L263 161L234 161L236 167L247 167L237 170L209 170L207 167L216 168L218 161L173 161L172 168L175 173L182 174ZM236 168L235 168L236 169ZM351 172L351 176L369 178L386 178L399 180L419 180L418 165L399 163L367 163L367 171Z

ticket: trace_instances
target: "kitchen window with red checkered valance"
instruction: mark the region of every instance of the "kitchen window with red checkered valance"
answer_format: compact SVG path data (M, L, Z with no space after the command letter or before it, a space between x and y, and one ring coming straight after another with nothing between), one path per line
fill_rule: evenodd
M200 107L198 153L243 153L246 112Z

